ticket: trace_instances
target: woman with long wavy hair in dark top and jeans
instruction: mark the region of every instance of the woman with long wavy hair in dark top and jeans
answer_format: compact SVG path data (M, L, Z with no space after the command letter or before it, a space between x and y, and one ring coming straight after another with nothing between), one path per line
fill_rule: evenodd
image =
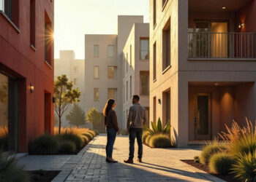
M106 146L106 162L117 162L112 158L113 146L116 141L116 132L119 135L116 112L113 108L116 107L116 102L113 99L108 99L105 105L103 114L105 116L105 127L107 128L107 146Z

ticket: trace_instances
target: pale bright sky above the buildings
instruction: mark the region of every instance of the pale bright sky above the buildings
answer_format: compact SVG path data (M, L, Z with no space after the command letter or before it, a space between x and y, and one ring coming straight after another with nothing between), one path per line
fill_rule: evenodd
M144 15L149 22L149 0L55 0L54 57L74 50L84 59L85 34L116 34L118 15Z

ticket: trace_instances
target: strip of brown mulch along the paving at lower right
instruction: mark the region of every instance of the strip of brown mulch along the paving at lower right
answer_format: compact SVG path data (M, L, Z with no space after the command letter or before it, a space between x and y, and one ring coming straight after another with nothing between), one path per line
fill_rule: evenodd
M187 163L188 165L192 165L193 167L197 167L197 169L203 170L206 173L209 173L211 175L216 176L217 178L221 178L222 180L225 180L227 182L239 182L238 179L235 178L235 175L229 174L229 175L218 175L211 173L208 166L202 165L199 162L195 162L194 160L181 160L182 162Z

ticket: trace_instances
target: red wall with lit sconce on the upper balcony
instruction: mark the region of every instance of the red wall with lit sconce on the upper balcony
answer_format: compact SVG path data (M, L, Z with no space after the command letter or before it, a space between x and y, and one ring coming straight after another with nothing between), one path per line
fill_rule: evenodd
M236 28L238 32L256 33L256 0L249 1L236 12ZM244 23L243 28L238 28L239 23Z

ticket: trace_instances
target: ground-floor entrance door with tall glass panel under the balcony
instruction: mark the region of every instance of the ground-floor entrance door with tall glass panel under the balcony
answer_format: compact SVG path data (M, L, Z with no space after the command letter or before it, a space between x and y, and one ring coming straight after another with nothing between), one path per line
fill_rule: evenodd
M211 140L211 94L195 94L195 140Z

